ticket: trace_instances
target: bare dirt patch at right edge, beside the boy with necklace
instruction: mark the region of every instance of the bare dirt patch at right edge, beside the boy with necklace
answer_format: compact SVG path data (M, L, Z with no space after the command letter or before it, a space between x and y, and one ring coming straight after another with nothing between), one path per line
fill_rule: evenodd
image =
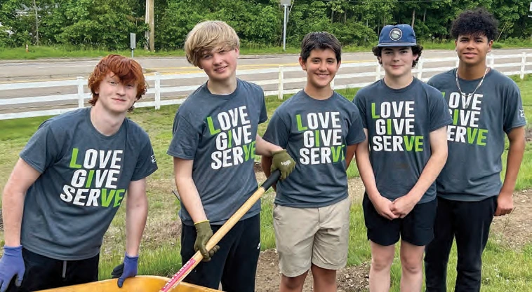
M532 242L532 190L514 192L514 211L493 218L492 240L520 249Z

